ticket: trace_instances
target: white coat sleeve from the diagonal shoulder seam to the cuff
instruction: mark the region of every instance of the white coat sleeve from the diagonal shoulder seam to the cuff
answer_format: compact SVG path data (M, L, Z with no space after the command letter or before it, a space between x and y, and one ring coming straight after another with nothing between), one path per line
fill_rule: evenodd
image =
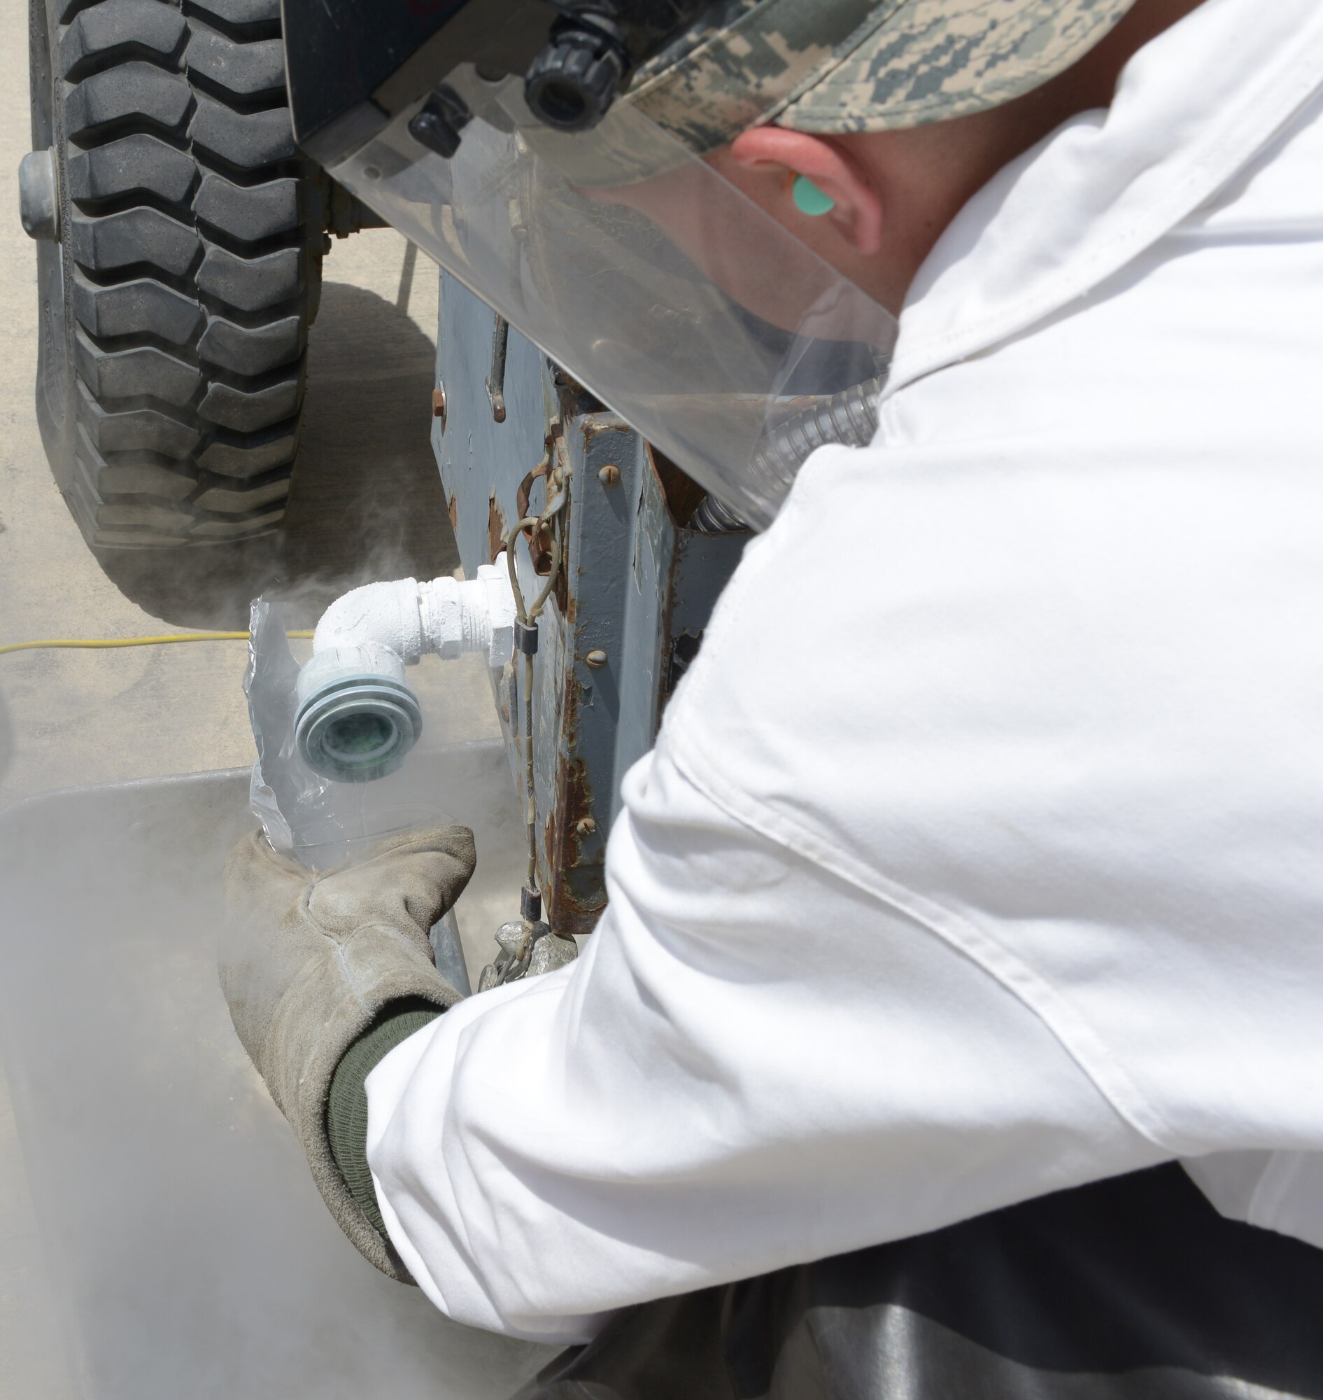
M655 750L569 967L368 1078L390 1238L463 1323L613 1309L1159 1161L1013 993L733 820Z

